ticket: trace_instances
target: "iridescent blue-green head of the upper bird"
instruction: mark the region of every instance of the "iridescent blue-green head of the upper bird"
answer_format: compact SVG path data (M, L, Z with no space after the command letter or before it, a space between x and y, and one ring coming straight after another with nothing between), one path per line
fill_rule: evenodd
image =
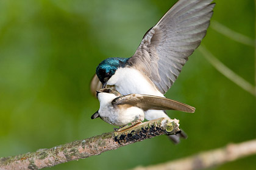
M107 58L103 60L96 69L96 74L102 83L102 87L105 87L107 81L115 74L119 67L126 66L126 61L129 58Z

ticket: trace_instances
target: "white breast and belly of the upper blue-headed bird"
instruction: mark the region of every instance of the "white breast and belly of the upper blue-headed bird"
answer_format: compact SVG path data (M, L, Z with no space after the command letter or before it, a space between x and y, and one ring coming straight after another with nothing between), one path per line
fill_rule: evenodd
M151 80L132 67L118 68L107 84L110 86L115 84L115 89L123 95L144 94L165 97L157 90ZM147 120L154 120L160 117L169 118L163 110L147 110L145 112Z

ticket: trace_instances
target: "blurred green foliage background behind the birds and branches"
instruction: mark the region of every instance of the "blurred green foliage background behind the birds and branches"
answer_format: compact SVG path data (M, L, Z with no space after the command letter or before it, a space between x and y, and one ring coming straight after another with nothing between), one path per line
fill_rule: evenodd
M0 0L0 157L51 148L113 130L91 120L99 102L89 84L111 56L132 56L144 33L176 1ZM216 1L212 20L255 37L254 1ZM208 29L204 47L254 84L254 47ZM166 97L196 107L180 120L187 140L165 135L46 169L127 169L251 140L255 97L196 50ZM255 169L256 155L213 169Z

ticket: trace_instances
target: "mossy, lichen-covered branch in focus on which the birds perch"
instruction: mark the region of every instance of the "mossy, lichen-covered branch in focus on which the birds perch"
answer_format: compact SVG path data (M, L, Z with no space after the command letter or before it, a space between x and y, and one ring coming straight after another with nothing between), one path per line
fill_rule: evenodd
M145 140L162 134L179 132L179 120L159 118L130 127L121 132L108 132L102 135L39 149L36 152L0 158L0 169L41 169L79 160L102 152L117 149L127 144Z

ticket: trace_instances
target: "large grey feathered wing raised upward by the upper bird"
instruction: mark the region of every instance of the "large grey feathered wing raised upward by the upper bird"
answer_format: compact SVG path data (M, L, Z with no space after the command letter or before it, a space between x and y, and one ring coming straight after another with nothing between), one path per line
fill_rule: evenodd
M149 30L127 62L165 94L206 34L212 0L180 0Z

